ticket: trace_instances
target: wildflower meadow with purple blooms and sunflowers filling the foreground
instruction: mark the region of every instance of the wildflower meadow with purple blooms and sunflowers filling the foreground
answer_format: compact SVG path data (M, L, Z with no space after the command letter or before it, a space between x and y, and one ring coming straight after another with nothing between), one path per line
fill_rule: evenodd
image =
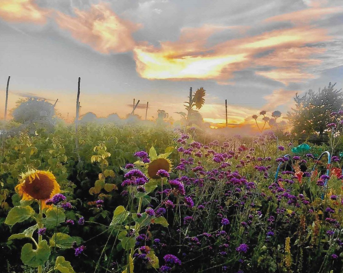
M343 111L322 145L280 137L280 111L214 135L192 124L198 90L182 126L3 138L1 272L342 272Z

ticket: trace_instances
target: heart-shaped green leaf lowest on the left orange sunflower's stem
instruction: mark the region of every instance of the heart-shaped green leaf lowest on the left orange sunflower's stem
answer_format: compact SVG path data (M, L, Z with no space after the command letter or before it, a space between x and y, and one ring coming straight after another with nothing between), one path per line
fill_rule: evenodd
M21 260L24 264L38 267L43 265L50 257L50 247L46 240L39 243L37 249L32 249L32 244L25 244L21 252Z

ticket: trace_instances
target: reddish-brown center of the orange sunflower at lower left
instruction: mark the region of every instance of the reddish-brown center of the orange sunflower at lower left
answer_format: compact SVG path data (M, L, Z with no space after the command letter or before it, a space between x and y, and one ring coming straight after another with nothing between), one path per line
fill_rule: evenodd
M35 179L30 183L29 178L25 179L24 191L37 200L49 199L54 190L54 181L46 174L38 174L39 179Z

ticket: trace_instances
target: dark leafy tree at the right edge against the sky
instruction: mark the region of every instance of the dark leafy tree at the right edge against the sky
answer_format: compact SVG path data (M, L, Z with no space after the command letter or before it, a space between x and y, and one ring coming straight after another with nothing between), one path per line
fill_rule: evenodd
M328 140L324 134L327 124L330 123L330 113L342 108L342 89L334 89L336 84L329 83L328 87L314 92L308 90L304 96L295 95L295 108L288 112L287 119L291 122L294 133L300 141L309 140L312 143L321 143Z

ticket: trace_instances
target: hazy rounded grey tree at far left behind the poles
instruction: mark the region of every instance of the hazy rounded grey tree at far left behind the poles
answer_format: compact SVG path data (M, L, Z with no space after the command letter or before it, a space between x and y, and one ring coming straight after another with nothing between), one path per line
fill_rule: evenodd
M57 122L55 106L45 99L27 98L17 101L12 109L13 121L21 123L21 130L34 133L37 129L51 132Z

